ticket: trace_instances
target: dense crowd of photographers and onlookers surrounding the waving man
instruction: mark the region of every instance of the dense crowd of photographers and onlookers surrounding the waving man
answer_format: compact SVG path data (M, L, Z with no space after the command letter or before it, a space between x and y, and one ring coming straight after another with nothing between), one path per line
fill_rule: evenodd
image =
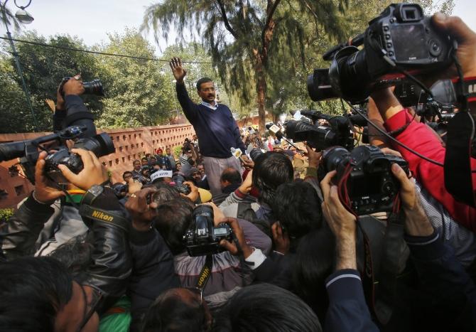
M433 21L476 77L476 33ZM95 154L72 149L83 168L60 164L60 188L39 154L35 190L0 226L0 331L476 330L476 209L446 191L443 168L370 136L410 172L391 166L397 213L357 216L336 171L318 176L321 151L240 130L212 80L195 104L180 59L171 69L197 133L179 156L157 149L110 183ZM83 90L65 83L67 114L87 112ZM443 162L439 136L391 89L368 114Z

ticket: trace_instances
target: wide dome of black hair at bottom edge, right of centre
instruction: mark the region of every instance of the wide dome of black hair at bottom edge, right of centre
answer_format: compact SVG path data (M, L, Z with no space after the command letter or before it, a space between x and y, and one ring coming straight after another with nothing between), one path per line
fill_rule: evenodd
M320 332L317 316L298 296L271 284L243 287L217 314L213 331Z

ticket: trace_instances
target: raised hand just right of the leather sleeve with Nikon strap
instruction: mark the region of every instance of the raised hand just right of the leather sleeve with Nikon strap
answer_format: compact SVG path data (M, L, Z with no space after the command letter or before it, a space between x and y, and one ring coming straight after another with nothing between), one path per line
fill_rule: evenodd
M157 215L158 203L151 196L156 193L156 188L146 188L132 194L126 202L126 210L132 218L132 227L145 231L151 229L151 222ZM150 198L151 203L147 203Z

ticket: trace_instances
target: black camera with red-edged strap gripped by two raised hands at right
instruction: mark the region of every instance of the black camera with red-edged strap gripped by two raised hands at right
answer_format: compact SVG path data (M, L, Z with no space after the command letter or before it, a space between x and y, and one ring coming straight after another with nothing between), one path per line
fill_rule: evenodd
M399 164L409 172L404 159L384 154L377 146L357 146L351 152L333 146L323 151L318 176L322 180L325 174L336 170L340 200L357 215L391 212L400 189L399 181L391 173L391 164Z

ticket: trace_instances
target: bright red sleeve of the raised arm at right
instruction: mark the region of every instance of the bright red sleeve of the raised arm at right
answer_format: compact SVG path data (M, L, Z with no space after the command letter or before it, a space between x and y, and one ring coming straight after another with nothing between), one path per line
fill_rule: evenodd
M397 130L411 122L411 119L411 114L406 109L402 109L388 119L384 126L388 131ZM445 161L445 147L426 124L413 121L401 134L396 136L396 139L429 159L440 163ZM410 170L416 180L448 210L453 219L472 230L472 232L476 232L476 208L457 202L446 191L443 167L421 159L398 144L394 144L394 149L399 151L404 159L409 162ZM471 159L471 168L476 169L476 159ZM475 173L472 174L472 186L476 188Z

